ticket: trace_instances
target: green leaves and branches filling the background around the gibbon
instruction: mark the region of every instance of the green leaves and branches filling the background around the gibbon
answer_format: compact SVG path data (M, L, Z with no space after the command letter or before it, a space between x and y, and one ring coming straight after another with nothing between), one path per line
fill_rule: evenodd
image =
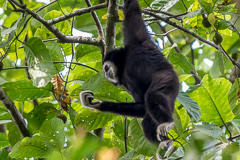
M239 1L139 3L181 83L169 159L240 159ZM0 6L0 159L155 159L140 119L87 110L79 101L84 90L99 100L133 101L104 78L101 64L105 49L123 45L122 1ZM221 44L212 42L216 33Z

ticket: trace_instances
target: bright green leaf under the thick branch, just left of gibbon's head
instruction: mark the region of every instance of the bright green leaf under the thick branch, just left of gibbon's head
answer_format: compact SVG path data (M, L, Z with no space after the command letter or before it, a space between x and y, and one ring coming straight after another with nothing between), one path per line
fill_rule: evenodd
M100 52L100 50L95 46L78 44L76 47L76 60L79 61L83 56L85 56L89 53L96 55L98 52ZM90 61L88 61L88 62L90 62Z

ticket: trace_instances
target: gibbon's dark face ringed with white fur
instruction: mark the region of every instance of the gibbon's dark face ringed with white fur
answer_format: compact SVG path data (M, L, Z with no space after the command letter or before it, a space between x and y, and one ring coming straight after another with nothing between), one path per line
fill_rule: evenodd
M117 68L112 62L104 62L103 72L109 82L113 83L114 85L117 85L119 83L117 76Z

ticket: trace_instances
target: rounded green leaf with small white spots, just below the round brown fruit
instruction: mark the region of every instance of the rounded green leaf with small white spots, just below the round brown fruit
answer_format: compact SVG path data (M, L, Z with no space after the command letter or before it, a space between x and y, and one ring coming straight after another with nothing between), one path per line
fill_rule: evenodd
M40 128L40 136L47 147L61 152L65 143L63 121L59 118L45 121Z

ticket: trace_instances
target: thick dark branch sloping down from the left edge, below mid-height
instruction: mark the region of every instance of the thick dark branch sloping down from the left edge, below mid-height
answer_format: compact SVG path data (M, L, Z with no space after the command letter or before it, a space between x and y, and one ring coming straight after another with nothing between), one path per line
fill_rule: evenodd
M8 112L11 114L14 123L20 130L23 137L30 137L31 135L27 129L23 116L18 111L13 101L8 97L8 95L4 92L4 90L1 87L0 87L0 101L4 104Z

